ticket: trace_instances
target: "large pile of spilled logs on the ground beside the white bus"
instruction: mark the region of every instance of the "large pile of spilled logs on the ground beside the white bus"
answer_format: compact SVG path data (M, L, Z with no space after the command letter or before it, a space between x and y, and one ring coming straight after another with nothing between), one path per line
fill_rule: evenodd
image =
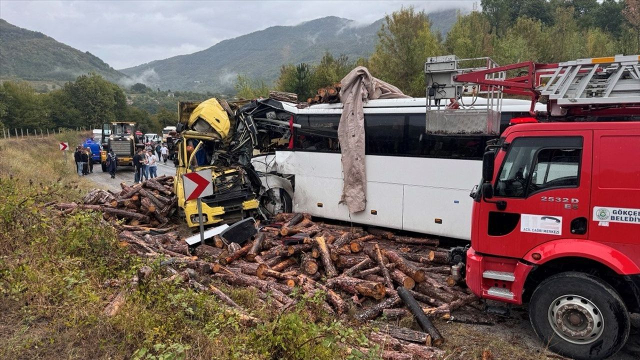
M327 312L359 321L415 317L422 331L387 324L371 334L372 341L385 344L385 359L442 355L436 347L444 339L431 319L486 323L476 316L477 297L448 275L447 253L438 240L321 224L300 213L279 214L274 220L239 249L231 250L214 236L209 245L193 250L194 258L176 261L195 270L197 281L205 285L218 279L250 287L260 301L281 310L298 301L292 297L298 287L303 297L320 291ZM246 315L244 309L236 311Z

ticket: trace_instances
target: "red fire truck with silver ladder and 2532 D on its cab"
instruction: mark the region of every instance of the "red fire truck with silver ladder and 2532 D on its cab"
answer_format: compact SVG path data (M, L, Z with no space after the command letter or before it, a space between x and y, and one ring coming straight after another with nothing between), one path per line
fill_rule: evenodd
M548 106L487 147L470 247L450 255L461 261L454 275L483 299L528 302L551 350L611 356L640 313L640 56L484 69L440 60L431 61L435 97L474 84ZM514 69L525 70L508 78Z

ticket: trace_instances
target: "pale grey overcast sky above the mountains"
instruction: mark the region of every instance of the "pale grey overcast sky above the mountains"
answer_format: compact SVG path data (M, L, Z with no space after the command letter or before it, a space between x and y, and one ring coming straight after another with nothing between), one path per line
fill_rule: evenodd
M476 1L479 3L479 1ZM401 6L435 12L474 1L0 1L0 17L115 69L190 54L221 40L329 15L370 24Z

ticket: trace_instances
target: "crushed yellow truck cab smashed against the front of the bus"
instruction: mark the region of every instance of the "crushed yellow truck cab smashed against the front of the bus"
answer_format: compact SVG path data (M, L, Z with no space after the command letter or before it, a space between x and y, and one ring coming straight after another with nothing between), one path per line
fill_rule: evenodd
M181 102L176 176L173 181L179 213L189 227L198 226L196 200L185 200L182 175L211 170L214 194L202 198L203 224L227 224L255 215L260 179L252 168L236 163L229 156L232 115L217 99Z

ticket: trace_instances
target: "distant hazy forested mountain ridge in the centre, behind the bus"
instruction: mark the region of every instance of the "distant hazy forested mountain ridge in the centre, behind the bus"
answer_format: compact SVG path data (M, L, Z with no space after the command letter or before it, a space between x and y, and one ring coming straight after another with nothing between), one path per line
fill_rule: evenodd
M429 15L435 31L446 33L456 10ZM324 17L296 26L273 26L241 37L224 40L197 53L122 69L130 76L154 73L154 83L163 90L233 92L238 74L259 78L267 84L278 78L286 63L317 63L325 52L351 59L368 57L374 51L383 20L363 26L354 20ZM438 28L436 28L438 26Z

